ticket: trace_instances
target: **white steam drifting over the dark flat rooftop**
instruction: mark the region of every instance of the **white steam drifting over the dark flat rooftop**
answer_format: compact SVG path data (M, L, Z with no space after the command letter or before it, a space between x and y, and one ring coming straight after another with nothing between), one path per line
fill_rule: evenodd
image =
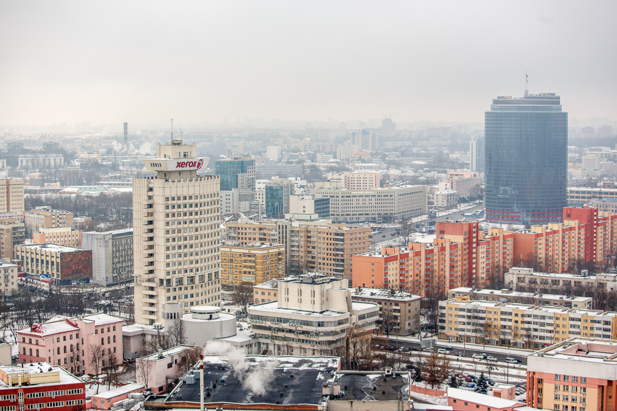
M267 393L268 387L274 381L274 370L279 364L277 360L268 360L260 362L249 371L251 364L247 361L244 351L226 341L208 341L205 344L204 355L208 354L226 356L228 364L233 368L234 376L242 382L244 388L250 389L258 396Z

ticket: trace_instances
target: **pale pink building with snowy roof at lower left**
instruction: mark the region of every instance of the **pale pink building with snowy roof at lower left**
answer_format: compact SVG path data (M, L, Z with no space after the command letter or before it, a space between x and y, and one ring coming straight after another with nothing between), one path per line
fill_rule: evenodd
M122 362L122 319L97 313L69 318L64 315L17 332L19 362L49 362L76 375L92 374L90 348L115 353Z

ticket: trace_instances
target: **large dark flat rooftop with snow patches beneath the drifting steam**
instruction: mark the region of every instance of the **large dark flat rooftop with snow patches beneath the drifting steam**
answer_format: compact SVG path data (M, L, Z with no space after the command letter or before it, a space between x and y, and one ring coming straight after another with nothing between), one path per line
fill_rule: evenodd
M226 356L204 356L205 403L320 404L321 387L339 362L339 357L246 356L238 364ZM236 372L233 364L247 369ZM199 403L199 369L193 373L195 383L181 383L165 402ZM259 389L264 391L258 394Z

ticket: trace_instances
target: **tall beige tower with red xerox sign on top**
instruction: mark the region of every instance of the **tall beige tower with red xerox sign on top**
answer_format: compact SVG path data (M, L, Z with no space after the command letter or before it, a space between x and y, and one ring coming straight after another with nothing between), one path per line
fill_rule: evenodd
M220 180L197 176L194 144L173 140L133 179L135 321L162 323L164 303L220 305Z

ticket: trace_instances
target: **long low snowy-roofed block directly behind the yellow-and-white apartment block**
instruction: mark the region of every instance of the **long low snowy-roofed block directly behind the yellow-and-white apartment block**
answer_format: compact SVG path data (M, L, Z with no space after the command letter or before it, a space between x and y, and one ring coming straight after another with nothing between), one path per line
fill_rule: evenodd
M458 287L448 290L448 298L468 296L471 299L499 301L501 303L534 304L537 306L566 307L592 309L591 297L567 296L559 294L528 293L503 290L489 290L488 288Z

